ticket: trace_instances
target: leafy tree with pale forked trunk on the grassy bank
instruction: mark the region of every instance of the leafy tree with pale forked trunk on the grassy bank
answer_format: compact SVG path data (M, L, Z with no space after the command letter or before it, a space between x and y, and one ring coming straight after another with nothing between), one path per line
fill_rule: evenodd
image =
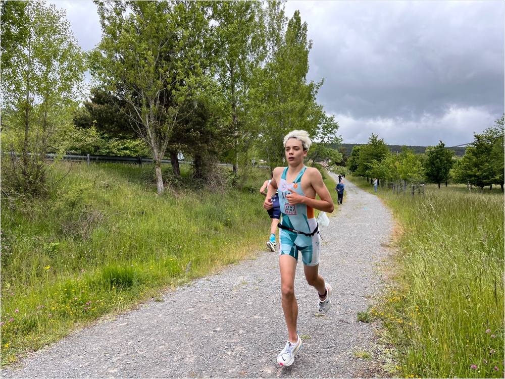
M180 111L203 76L193 30L181 23L187 7L184 2L96 4L103 37L92 53L92 73L125 102L131 126L153 154L161 194L161 160L171 130L185 116Z

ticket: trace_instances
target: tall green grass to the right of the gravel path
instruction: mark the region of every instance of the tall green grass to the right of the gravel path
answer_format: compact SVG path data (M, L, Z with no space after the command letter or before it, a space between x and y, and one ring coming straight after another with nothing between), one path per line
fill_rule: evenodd
M349 178L373 193L362 178ZM462 188L464 188L462 190ZM503 194L428 185L378 196L398 222L391 287L371 309L405 377L503 377ZM495 369L496 368L496 369Z

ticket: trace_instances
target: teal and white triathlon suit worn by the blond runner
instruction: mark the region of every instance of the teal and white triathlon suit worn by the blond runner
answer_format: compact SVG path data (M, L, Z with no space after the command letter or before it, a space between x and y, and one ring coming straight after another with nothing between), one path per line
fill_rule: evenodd
M294 229L307 234L313 233L317 228L317 221L314 218L314 208L305 204L289 204L286 195L290 192L296 192L305 196L301 189L301 177L304 175L307 167L301 169L296 179L292 183L286 181L287 167L284 169L281 181L278 186L279 205L282 213L281 224L290 229ZM306 236L281 229L279 233L279 255L287 254L298 260L298 252L301 252L301 258L305 265L315 266L319 264L319 255L321 253L321 238L319 232L313 236Z

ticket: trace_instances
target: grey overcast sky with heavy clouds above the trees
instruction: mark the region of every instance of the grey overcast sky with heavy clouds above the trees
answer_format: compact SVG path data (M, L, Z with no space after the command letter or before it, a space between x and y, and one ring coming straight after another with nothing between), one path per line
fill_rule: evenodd
M100 40L89 0L67 11L84 50ZM505 2L288 1L313 40L308 79L344 143L371 133L388 144L452 146L473 140L504 112Z

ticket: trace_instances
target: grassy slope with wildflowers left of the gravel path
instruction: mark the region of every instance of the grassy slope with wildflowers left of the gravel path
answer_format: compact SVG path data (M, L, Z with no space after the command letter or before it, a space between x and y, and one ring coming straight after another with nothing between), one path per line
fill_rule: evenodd
M153 175L73 164L49 199L3 197L2 364L263 248L270 219L257 189L266 172L223 193L183 178L162 196Z

